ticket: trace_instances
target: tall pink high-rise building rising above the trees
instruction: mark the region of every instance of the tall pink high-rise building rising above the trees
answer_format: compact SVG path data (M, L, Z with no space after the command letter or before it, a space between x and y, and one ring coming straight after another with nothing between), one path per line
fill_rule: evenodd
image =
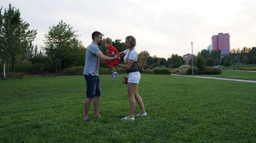
M221 55L230 54L229 33L218 33L212 36L212 50L221 50Z

